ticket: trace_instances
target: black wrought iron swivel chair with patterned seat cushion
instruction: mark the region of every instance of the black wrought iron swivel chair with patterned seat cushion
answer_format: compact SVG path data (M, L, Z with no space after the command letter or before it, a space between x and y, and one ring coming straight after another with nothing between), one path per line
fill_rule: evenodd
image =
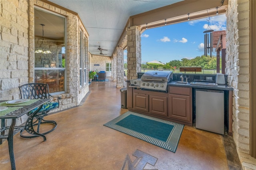
M59 107L59 99L61 99L60 97L54 97L51 96L49 94L49 87L48 84L42 84L42 83L28 83L28 84L24 84L22 86L19 86L20 89L20 95L21 95L21 99L49 99L50 97L52 98L57 98L58 102L47 102L45 103L42 108L38 111L38 113L36 113L36 115L34 117L36 117L36 121L33 122L33 126L37 125L37 133L40 133L40 124L42 123L51 123L52 125L54 125L54 127L52 129L50 129L49 131L46 131L44 133L40 133L40 134L47 134L50 133L51 131L53 131L56 127L57 127L57 123L56 121L53 120L44 120L44 117L46 115L48 115L48 112L52 109L56 109ZM36 111L35 108L33 111L30 111L29 113L27 113L28 115L30 115L31 113L33 113L34 111ZM27 127L25 127L27 128ZM36 135L32 136L26 136L23 135L22 132L25 129L22 129L22 131L20 131L20 136L21 137L25 137L25 138L32 138L32 137L37 137Z

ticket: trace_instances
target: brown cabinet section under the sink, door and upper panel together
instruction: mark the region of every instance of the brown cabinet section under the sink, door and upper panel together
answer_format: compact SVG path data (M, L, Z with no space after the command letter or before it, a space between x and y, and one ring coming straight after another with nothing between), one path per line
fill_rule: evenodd
M192 89L169 87L168 117L192 125Z

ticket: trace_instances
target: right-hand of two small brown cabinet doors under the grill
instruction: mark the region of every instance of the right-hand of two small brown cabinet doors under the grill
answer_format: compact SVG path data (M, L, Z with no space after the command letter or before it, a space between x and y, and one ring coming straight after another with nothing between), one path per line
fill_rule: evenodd
M167 97L149 96L149 112L167 116Z

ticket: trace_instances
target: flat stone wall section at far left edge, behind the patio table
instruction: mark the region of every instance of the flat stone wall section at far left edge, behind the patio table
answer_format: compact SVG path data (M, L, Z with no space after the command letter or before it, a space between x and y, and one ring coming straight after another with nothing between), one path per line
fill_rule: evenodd
M0 100L19 99L18 86L28 82L29 3L2 0L0 8ZM20 118L21 124L26 118ZM10 125L10 120L7 121Z

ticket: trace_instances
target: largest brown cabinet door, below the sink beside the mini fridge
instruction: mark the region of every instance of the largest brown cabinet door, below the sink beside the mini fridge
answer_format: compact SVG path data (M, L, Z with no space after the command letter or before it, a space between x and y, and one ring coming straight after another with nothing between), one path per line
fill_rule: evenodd
M169 117L190 121L190 96L169 94Z

